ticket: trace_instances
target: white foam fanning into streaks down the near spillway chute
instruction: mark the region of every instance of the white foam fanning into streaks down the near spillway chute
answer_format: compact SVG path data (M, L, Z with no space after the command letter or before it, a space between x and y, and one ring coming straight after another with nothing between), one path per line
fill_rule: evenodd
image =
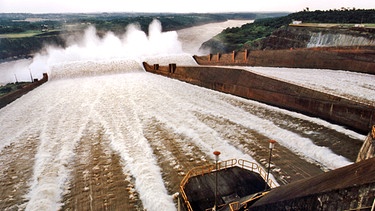
M254 106L266 106L146 72L54 80L0 110L2 128L13 128L1 133L0 139L20 141L27 134L40 134L34 176L26 196L30 200L27 203L30 210L61 207L70 171L67 162L74 157L73 149L84 135L87 122L94 123L92 131L104 129L104 138L121 156L124 172L135 178L135 188L148 210L158 210L155 206L164 210L175 208L172 196L164 187L156 158L143 135L145 118L155 118L176 134L186 137L181 140L181 145L185 142L188 146L192 142L211 159L212 152L219 150L222 160L253 160L240 146L221 137L218 128L200 121L197 113L228 119L275 138L302 157L313 159L327 168L349 163L340 155L314 145L309 139L228 104L232 98ZM33 111L32 120L23 114L29 109ZM285 110L277 111L288 114ZM20 121L19 124L17 119L34 123L28 125ZM18 130L24 132L13 138Z

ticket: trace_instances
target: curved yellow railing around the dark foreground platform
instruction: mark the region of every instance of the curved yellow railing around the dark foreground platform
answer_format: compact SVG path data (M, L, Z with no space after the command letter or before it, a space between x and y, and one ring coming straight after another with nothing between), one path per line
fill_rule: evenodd
M267 180L266 171L263 168L261 168L258 164L247 161L247 160L230 159L230 160L219 162L217 164L218 170L227 169L227 168L231 168L231 167L234 167L234 166L238 166L238 167L241 167L243 169L247 169L247 170L250 170L250 171L253 171L253 172L257 172L264 179L264 181ZM186 196L186 193L184 191L184 187L185 187L186 183L192 177L208 174L208 173L211 173L215 170L216 170L215 164L206 165L206 166L199 166L199 167L191 169L185 175L185 177L181 180L180 193L181 193L182 198L184 199L184 203L187 206L187 209L189 211L193 211L193 208L191 207L190 202L189 202L189 200ZM271 187L271 188L277 187L275 182L271 179L268 180L268 186Z

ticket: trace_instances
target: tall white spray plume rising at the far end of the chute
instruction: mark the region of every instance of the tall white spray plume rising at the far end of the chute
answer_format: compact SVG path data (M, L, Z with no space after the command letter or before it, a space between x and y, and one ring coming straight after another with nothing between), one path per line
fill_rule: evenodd
M115 74L141 71L141 62L148 57L183 53L177 33L162 32L161 23L156 19L149 26L149 35L131 24L122 36L107 32L99 37L96 29L90 26L81 39L68 40L66 48L48 46L36 54L30 70L40 77L48 72L52 79ZM92 68L95 64L103 68Z

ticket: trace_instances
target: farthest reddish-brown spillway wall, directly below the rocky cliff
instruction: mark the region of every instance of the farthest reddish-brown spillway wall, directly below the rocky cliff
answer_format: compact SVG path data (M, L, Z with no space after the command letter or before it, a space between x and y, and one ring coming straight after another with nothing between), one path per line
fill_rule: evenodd
M254 50L194 56L200 65L332 69L375 74L375 47Z

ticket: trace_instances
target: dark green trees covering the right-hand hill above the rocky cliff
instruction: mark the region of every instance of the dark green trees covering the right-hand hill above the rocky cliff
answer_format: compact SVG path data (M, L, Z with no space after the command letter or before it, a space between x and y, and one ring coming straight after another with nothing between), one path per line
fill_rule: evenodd
M242 27L228 28L203 44L211 48L211 53L228 53L233 50L249 49L260 40L271 35L277 29L288 27L293 20L303 23L375 23L375 10L308 10L292 13L283 17L256 19L254 23Z

